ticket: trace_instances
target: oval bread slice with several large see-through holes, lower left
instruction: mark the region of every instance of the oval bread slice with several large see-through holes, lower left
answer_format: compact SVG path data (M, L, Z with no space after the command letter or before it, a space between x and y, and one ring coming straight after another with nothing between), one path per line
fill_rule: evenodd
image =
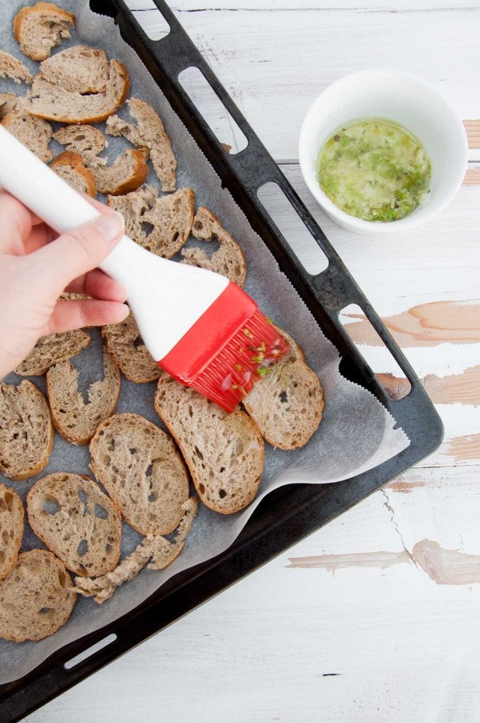
M119 562L121 513L90 477L48 474L27 495L35 535L80 576L105 575Z

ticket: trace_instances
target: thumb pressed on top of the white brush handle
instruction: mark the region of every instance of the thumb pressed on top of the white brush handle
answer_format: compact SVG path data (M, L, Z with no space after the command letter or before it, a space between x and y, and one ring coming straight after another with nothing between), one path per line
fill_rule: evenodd
M38 282L45 283L58 296L75 278L96 268L123 234L123 216L109 211L61 234L26 258L32 262Z

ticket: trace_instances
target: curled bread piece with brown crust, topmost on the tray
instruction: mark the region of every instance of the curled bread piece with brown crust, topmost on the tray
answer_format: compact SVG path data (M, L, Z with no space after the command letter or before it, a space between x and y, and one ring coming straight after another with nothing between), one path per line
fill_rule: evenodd
M74 25L75 16L71 12L53 3L38 2L33 7L23 7L15 15L13 34L22 53L32 60L45 60L51 48L70 37L70 26Z

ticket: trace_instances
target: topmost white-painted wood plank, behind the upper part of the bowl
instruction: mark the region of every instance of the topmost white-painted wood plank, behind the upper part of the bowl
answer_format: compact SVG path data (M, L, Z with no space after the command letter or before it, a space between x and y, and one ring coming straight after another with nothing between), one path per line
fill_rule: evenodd
M446 12L429 4L415 12L381 6L347 11L330 4L293 11L269 4L270 9L233 12L232 5L178 14L277 160L297 158L301 121L318 93L365 67L415 73L432 82L463 118L480 115L480 95L471 92L480 63L480 8ZM154 18L147 22L153 25Z

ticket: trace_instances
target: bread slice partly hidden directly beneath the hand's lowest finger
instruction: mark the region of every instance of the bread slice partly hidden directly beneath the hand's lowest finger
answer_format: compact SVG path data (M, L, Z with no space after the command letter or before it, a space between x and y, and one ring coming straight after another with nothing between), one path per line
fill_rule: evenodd
M71 359L90 344L90 334L86 329L63 331L48 334L38 339L30 354L15 369L15 374L32 377L45 374L47 369L59 361Z

